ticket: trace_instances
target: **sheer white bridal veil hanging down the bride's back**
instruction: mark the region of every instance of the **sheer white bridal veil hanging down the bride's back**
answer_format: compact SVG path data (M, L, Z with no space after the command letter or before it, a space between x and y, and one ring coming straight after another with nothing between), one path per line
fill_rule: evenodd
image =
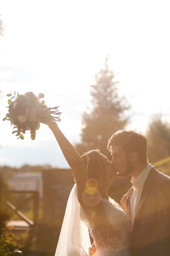
M55 256L87 256L90 246L89 229L80 218L80 203L75 184L67 201Z

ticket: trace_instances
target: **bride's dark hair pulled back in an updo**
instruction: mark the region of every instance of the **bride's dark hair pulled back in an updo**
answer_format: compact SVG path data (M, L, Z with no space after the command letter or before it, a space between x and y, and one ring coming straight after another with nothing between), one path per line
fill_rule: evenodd
M89 179L93 178L101 184L104 176L104 163L99 149L91 150L81 156Z

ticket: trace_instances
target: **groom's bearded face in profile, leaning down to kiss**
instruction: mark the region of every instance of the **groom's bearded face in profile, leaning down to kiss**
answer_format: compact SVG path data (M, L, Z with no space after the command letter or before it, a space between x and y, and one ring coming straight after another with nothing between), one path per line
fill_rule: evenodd
M112 145L112 165L119 176L125 177L133 172L133 164L128 155L119 145Z

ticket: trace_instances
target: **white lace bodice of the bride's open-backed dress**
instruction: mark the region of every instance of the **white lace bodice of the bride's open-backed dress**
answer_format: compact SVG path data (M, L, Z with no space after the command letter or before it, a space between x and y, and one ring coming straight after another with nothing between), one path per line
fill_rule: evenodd
M127 214L112 198L109 198L109 200L102 198L101 200L106 214L107 242L101 236L100 230L95 226L88 213L86 213L82 207L80 209L81 221L83 221L89 228L90 235L94 240L97 251L102 251L104 253L107 251L117 252L128 249L129 224ZM125 253L120 255L129 254Z

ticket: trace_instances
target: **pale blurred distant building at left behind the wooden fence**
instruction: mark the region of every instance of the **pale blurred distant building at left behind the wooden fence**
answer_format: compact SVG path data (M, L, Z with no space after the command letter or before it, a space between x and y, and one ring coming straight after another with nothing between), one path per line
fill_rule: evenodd
M41 172L17 172L12 177L6 178L5 182L9 185L10 189L38 191L40 198L43 197Z

